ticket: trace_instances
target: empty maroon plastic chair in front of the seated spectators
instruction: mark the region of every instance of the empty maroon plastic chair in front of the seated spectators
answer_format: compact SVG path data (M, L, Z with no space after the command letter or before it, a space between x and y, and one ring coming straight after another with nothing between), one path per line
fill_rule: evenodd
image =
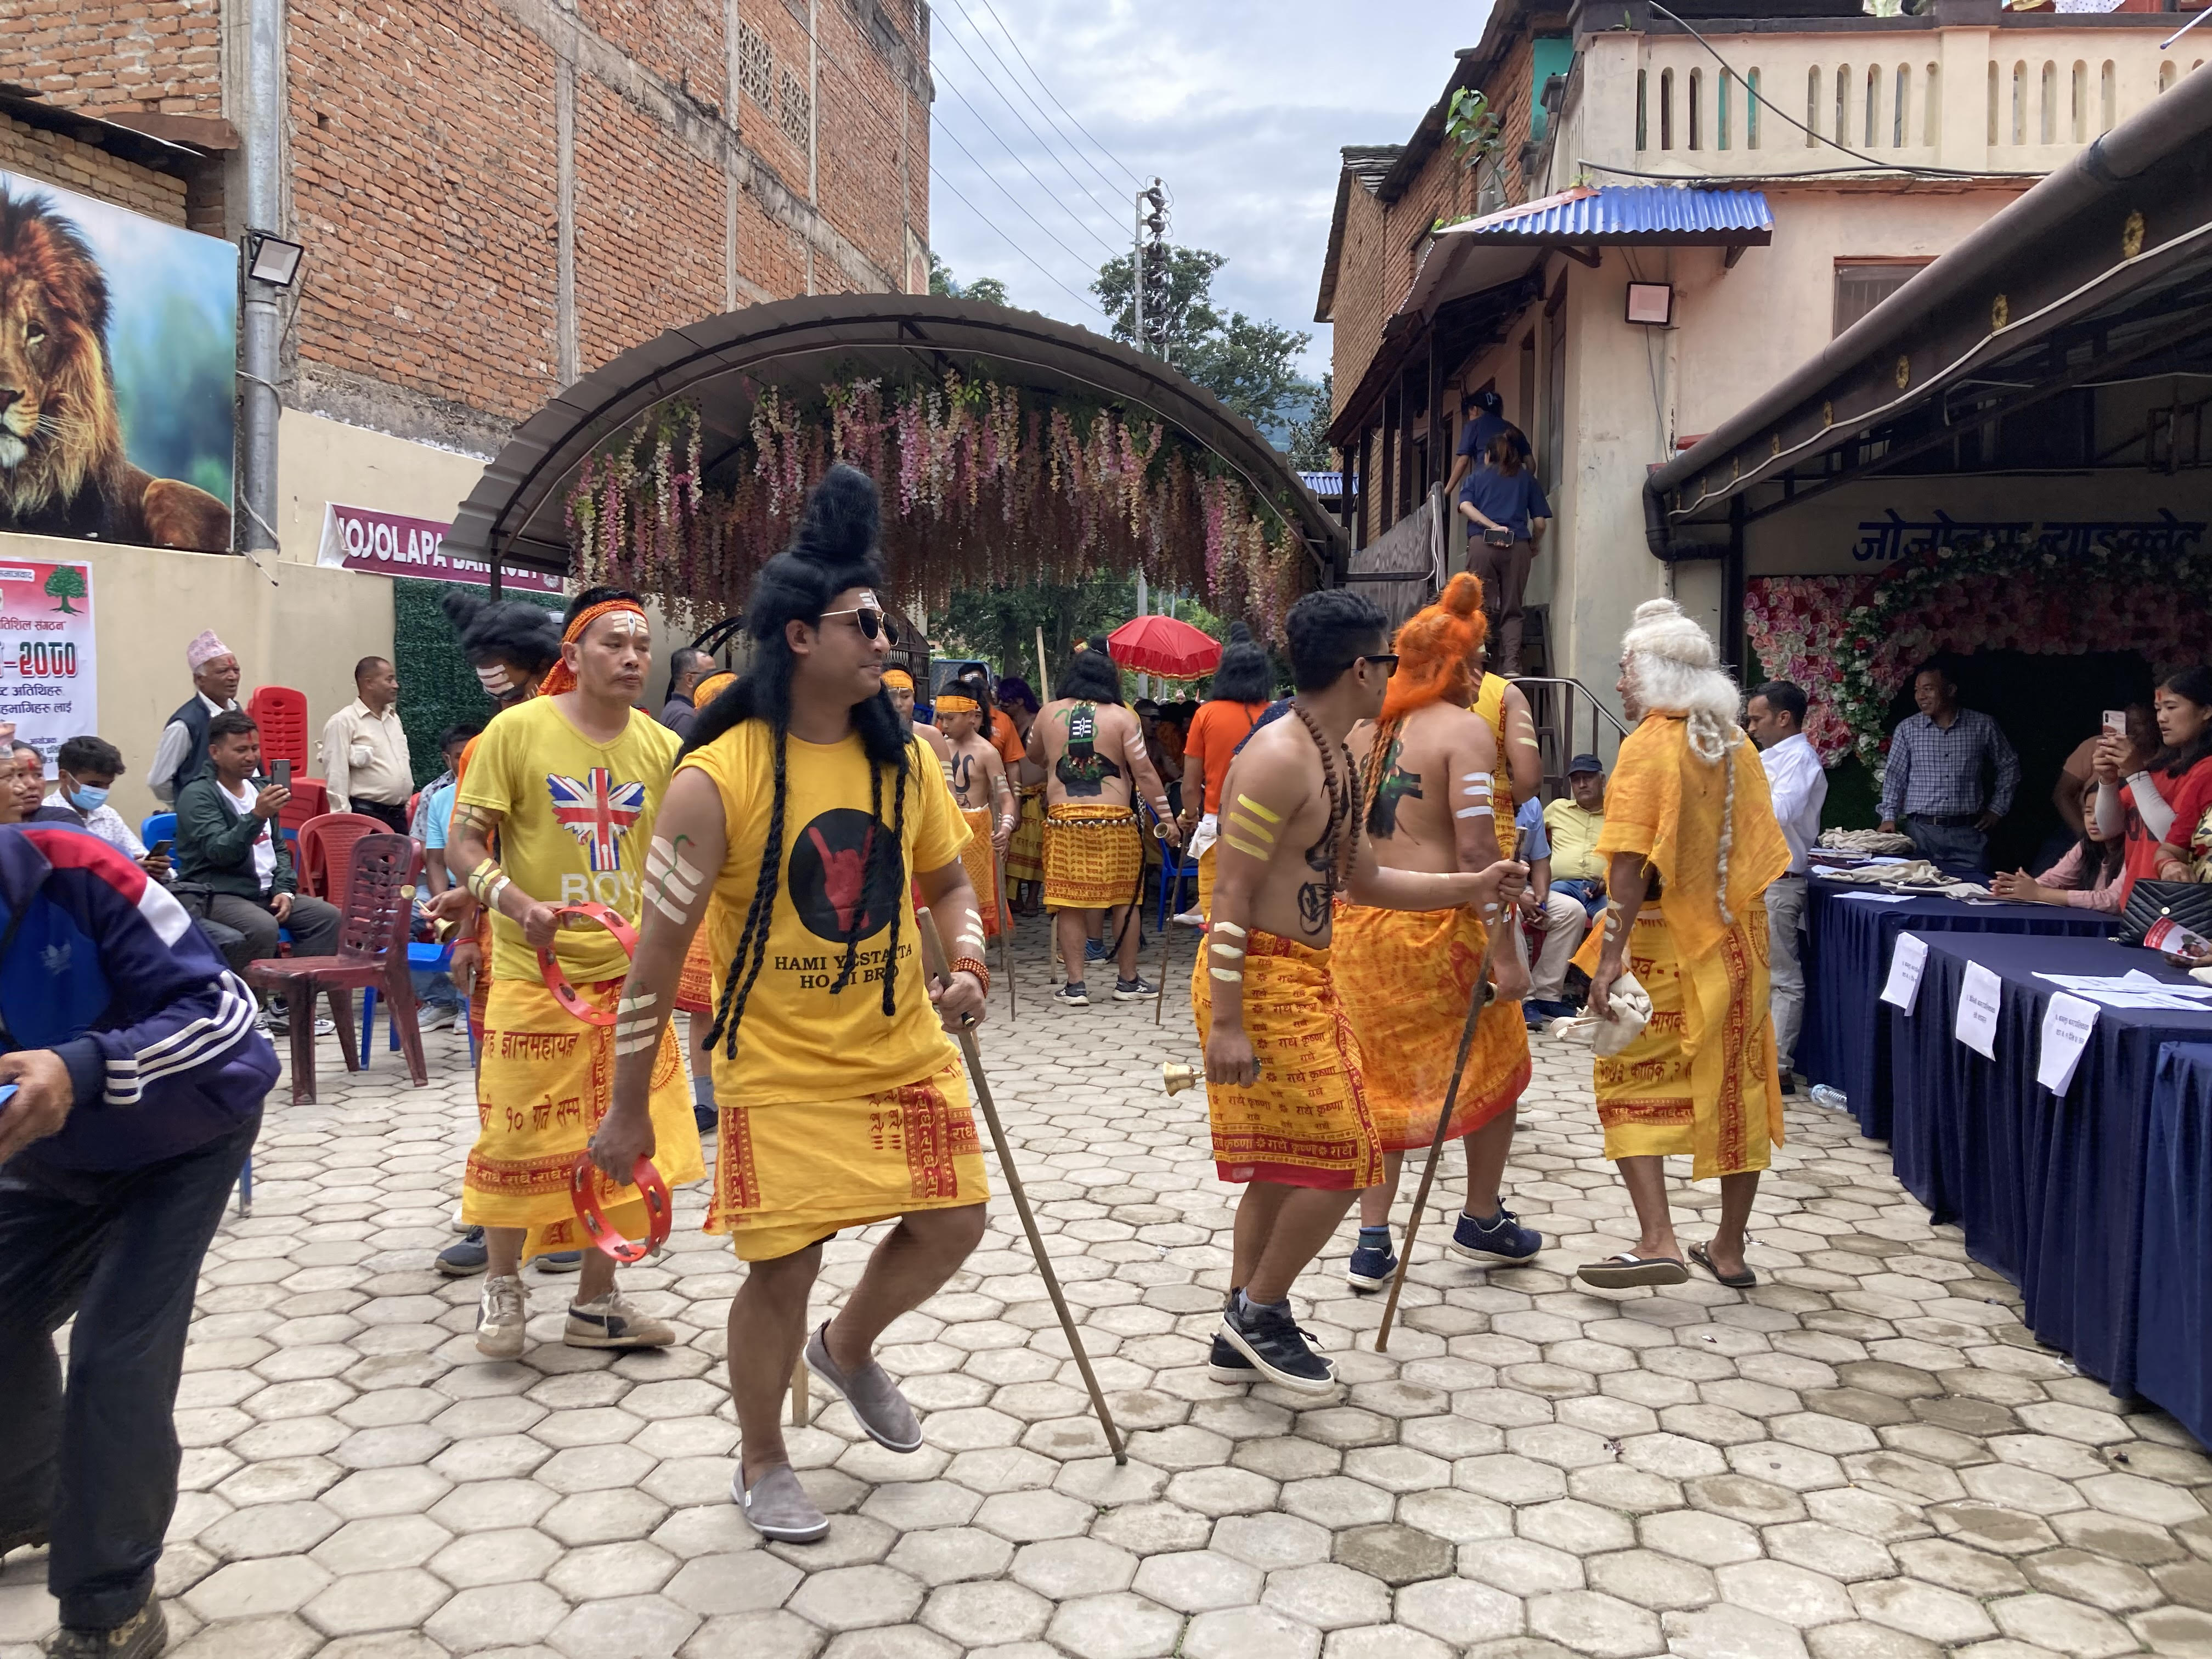
M383 825L349 847L345 918L336 956L276 956L246 964L246 982L283 993L292 1013L292 1104L314 1099L314 1000L330 1000L345 1068L361 1071L354 1042L354 991L376 987L392 1006L392 1026L407 1053L416 1088L429 1082L422 1029L416 1024L414 980L407 973L407 925L414 914L416 845Z

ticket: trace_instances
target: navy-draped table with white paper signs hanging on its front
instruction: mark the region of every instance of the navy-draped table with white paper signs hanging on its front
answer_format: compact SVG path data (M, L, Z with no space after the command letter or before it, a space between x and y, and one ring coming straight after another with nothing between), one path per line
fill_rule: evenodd
M2066 1349L2115 1394L2132 1394L2150 1084L2161 1044L2212 1040L2212 1006L2099 1004L2059 1097L2035 1082L2035 1068L2044 1009L2062 987L2037 973L2139 969L2174 984L2188 975L2157 951L2110 940L1931 933L1927 947L1913 1011L1891 1009L1898 1181L1936 1221L1960 1225L1975 1261L2020 1285L2035 1340ZM1971 962L2000 980L1995 1060L1953 1035Z

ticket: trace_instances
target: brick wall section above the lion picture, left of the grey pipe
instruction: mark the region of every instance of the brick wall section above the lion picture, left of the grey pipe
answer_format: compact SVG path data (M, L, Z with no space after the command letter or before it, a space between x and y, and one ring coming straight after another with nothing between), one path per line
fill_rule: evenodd
M0 80L49 104L221 115L217 0L24 0L0 11Z

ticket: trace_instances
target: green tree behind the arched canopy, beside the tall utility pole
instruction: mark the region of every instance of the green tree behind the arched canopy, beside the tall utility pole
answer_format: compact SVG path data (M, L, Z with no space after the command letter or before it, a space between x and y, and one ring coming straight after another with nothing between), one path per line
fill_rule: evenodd
M1292 420L1314 398L1314 383L1298 374L1312 334L1279 327L1243 312L1225 316L1214 305L1214 272L1228 259L1208 248L1168 248L1168 361L1241 414L1274 445L1290 440ZM1137 341L1130 292L1135 257L1099 265L1091 292L1113 319L1117 341Z

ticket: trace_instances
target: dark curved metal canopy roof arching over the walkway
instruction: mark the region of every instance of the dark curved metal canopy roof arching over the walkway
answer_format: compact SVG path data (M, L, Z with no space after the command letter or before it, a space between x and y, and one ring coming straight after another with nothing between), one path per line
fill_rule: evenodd
M1250 420L1159 358L1035 312L933 294L818 294L672 327L564 387L515 427L462 502L445 551L498 566L568 568L566 482L599 445L675 396L699 405L706 467L748 440L748 383L900 380L916 369L980 372L1037 394L1148 411L1243 476L1259 511L1287 511L1323 582L1349 553L1343 526ZM1281 507L1270 507L1281 504Z

